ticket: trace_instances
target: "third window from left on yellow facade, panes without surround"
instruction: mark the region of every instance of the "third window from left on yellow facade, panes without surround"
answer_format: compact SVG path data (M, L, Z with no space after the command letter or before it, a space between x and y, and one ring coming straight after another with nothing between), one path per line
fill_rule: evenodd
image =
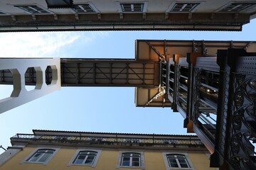
M123 153L120 166L141 166L141 154Z

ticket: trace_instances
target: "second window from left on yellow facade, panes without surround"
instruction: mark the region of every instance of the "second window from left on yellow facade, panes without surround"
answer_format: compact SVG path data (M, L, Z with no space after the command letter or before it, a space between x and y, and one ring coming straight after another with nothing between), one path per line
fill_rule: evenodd
M87 164L92 165L95 162L97 152L94 151L80 151L75 157L73 164Z

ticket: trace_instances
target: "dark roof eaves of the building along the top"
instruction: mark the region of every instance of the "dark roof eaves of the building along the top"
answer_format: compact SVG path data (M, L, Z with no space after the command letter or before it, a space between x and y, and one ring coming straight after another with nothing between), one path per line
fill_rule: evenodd
M234 13L142 13L54 14L38 16L0 16L0 32L72 30L220 30L240 31L250 22L249 14ZM100 18L99 18L100 17ZM65 18L65 20L63 19ZM134 19L135 18L135 19Z

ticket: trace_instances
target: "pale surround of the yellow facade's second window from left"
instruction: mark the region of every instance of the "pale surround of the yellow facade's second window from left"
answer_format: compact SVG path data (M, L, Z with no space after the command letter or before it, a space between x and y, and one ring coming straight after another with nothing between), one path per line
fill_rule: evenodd
M78 157L78 154L80 153L80 152L97 152L97 154L96 154L96 156L95 156L95 159L94 159L94 161L92 162L92 164L75 164L75 163L73 163L73 162L75 162L75 160L77 159L77 157ZM85 149L78 149L76 152L75 152L75 154L74 154L74 156L73 156L73 158L70 160L70 162L68 163L68 166L73 166L73 165L75 165L75 166L92 166L92 167L95 167L96 165L97 165L97 162L98 162L98 159L100 158L100 154L101 154L101 152L102 152L102 150L97 150L97 149L87 149L87 148L85 148ZM87 158L85 158L85 160L86 160ZM85 161L84 160L84 161Z

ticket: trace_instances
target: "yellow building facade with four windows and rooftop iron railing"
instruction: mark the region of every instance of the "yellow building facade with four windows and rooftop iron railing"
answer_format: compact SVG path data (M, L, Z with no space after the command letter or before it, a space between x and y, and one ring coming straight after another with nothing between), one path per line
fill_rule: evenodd
M11 137L1 170L213 169L193 135L141 135L33 130Z

